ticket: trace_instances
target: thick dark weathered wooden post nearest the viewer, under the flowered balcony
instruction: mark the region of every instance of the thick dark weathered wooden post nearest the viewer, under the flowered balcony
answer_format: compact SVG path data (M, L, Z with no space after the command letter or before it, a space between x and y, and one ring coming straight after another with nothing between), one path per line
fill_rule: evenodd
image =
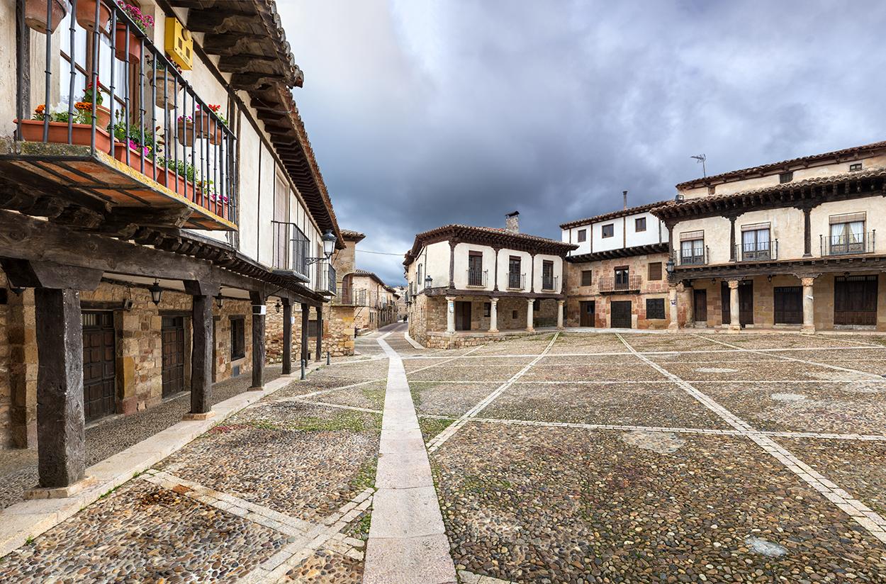
M37 469L40 487L64 489L86 471L80 292L37 288Z

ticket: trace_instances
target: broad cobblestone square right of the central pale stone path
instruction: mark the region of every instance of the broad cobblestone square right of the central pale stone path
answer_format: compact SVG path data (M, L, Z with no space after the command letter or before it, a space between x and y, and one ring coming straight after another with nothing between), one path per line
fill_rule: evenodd
M878 339L565 333L441 358L404 362L462 582L886 581Z

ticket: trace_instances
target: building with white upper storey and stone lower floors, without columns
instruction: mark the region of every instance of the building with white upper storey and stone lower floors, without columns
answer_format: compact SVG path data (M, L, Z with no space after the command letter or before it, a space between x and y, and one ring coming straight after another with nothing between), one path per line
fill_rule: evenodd
M667 230L650 213L658 205L626 207L560 225L563 241L578 245L566 257L567 326L676 325L664 270Z

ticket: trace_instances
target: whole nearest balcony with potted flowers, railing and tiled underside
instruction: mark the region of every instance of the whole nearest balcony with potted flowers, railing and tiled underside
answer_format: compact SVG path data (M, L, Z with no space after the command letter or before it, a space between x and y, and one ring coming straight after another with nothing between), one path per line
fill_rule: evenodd
M152 16L125 0L17 1L21 37L41 35L19 54L0 177L136 223L236 230L237 138L152 43Z

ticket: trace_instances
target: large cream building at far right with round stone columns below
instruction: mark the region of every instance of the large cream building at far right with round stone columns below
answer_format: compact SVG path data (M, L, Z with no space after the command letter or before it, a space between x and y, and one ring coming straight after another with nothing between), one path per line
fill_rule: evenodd
M886 330L884 185L886 142L678 184L652 213L680 313L731 331Z

